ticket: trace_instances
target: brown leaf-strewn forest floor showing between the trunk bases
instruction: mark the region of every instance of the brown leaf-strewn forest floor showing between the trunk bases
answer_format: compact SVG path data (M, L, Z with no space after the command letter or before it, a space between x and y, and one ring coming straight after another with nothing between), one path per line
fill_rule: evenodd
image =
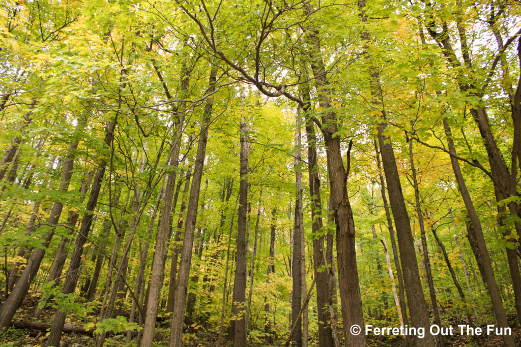
M34 307L38 304L38 299L36 297L29 297L23 301L20 310L18 310L17 314L14 317L14 320L18 322L34 322L34 318L31 317L32 311ZM40 317L40 322L52 322L54 310L46 310L43 312ZM91 320L93 317L90 317ZM512 335L514 336L514 340L518 346L521 346L521 327L517 322L515 316L509 317L510 324L512 327ZM74 317L72 317L74 319ZM79 320L76 324L81 326L86 322L81 322ZM485 347L500 347L503 346L503 342L501 340L501 336L486 336L486 324L481 325L482 330L485 332L482 336L483 345ZM204 329L190 329L188 328L188 334L183 336L185 339L184 345L190 347L200 347L200 346L214 346L217 336L214 333L210 333L205 331ZM19 347L38 347L45 345L46 340L46 331L40 329L31 329L31 328L16 328L11 326L9 329L6 329L4 332L0 333L0 346L8 347L8 346L19 346ZM109 333L105 342L106 346L124 346L126 345L126 336L124 333L114 334ZM156 343L155 346L163 346L168 345L168 329L160 329L155 336ZM266 343L252 343L250 346L261 347L261 346L279 346L283 345L285 340L276 341L274 344L266 344ZM379 346L387 346L387 347L401 347L404 345L403 340L400 337L368 337L368 345L379 347ZM132 345L132 342L131 344ZM232 346L233 341L222 341L221 345L223 347ZM310 341L310 346L315 346L313 341ZM479 344L473 337L469 336L460 336L459 334L454 334L454 336L446 337L445 339L446 346L478 346ZM61 338L60 346L66 347L91 347L94 346L94 340L91 334L89 333L64 333Z

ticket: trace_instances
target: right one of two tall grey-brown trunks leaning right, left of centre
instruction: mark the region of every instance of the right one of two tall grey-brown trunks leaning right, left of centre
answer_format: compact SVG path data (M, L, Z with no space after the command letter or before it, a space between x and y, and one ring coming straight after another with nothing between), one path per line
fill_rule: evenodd
M212 68L209 78L208 93L215 91L217 69ZM170 328L170 346L182 345L182 328L184 318L184 308L187 300L188 278L190 275L190 265L192 262L192 251L194 242L195 222L197 219L197 208L199 207L199 192L203 176L204 159L206 155L206 141L208 138L208 127L210 116L212 115L213 97L206 99L201 124L201 133L197 143L197 154L195 157L192 187L190 188L190 200L188 202L187 219L184 223L183 246L181 250L181 260L179 263L179 275L176 286L175 300L172 312L172 325Z

